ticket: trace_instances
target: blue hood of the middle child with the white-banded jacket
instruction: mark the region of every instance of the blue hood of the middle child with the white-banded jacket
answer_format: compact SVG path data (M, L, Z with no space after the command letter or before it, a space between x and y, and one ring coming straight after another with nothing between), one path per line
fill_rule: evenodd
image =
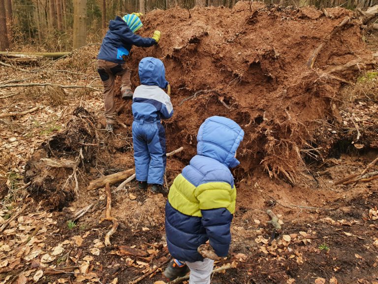
M161 60L154 57L145 57L139 62L138 71L142 85L159 86L162 89L167 87L165 68Z

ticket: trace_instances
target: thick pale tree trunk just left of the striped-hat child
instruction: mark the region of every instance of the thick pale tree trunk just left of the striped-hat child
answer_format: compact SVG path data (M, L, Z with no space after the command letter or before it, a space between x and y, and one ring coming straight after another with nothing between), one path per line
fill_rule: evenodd
M87 0L73 1L73 49L85 45Z

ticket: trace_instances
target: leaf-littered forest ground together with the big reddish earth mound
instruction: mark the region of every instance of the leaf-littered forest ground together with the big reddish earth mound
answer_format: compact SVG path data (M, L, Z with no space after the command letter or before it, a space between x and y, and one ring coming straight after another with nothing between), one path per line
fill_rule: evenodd
M230 256L216 266L232 267L212 283L377 284L377 36L342 8L326 16L250 4L155 10L144 19L143 36L159 29L163 37L133 48L133 87L141 58L164 62L175 109L164 122L167 149L184 147L167 158L166 183L195 154L203 120L230 117L246 136L233 170ZM141 192L135 181L113 184L119 226L105 246L105 188L88 189L134 167L131 102L118 88L126 128L104 130L97 52L93 44L57 61L3 59L13 67L0 67L0 284L165 281L166 196ZM4 87L30 83L61 86ZM62 88L75 85L90 88ZM267 223L268 209L281 230Z

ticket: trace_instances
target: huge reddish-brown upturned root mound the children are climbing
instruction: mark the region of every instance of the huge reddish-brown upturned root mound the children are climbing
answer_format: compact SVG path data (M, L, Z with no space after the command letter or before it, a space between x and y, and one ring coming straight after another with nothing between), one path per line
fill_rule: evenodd
M211 115L227 116L245 130L241 144L243 178L262 165L270 176L292 185L304 169L302 149L321 148L328 134L316 137L319 121L340 121L337 111L343 82L331 67L368 60L358 21L350 20L327 36L350 10L265 6L239 1L234 8L155 10L143 18L143 36L162 33L158 46L133 49L129 66L137 70L146 56L160 58L172 86L175 114L166 122L172 148L184 145L185 159L195 154L199 125ZM325 41L315 68L314 50ZM358 70L358 69L357 69ZM332 73L334 74L334 73ZM337 76L350 79L355 71ZM132 73L138 85L137 72Z

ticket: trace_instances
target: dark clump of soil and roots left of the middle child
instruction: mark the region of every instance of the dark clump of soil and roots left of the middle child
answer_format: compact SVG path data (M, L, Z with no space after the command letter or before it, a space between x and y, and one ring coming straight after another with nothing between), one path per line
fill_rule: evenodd
M28 191L45 209L62 210L86 185L83 173L91 174L103 138L95 125L93 114L77 107L66 129L43 143L27 162L24 181L31 182Z

